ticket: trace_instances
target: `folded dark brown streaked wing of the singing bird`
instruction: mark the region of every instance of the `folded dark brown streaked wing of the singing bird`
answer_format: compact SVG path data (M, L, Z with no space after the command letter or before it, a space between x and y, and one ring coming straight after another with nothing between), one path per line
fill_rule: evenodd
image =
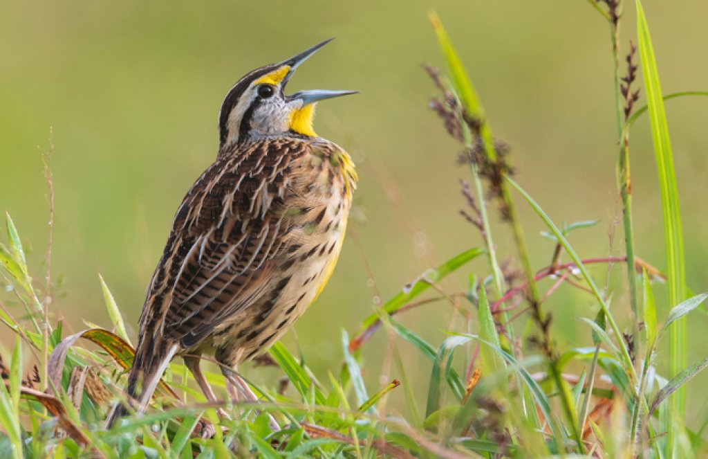
M287 145L287 147L286 147ZM217 160L190 189L173 231L187 253L171 280L164 333L190 347L268 291L282 238L288 173L302 142L254 144Z

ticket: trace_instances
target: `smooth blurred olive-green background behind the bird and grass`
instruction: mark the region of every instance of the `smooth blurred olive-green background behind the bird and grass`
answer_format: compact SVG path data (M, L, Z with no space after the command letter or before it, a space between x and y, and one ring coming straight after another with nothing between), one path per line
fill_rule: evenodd
M595 228L573 233L571 242L581 256L621 249L621 223L613 249L608 236L621 219L609 28L587 1L267 5L0 3L0 209L13 216L40 276L48 219L41 156L51 127L52 275L65 278L52 307L70 329L84 327L82 320L110 326L99 272L127 324L135 327L173 213L217 153L217 114L224 95L246 72L331 36L337 40L298 70L289 89L362 91L320 104L315 123L321 136L353 155L361 181L356 218L337 270L295 327L309 365L321 377L328 368L336 371L342 328L357 331L380 299L392 297L426 268L482 245L479 233L458 214L464 207L459 179L469 177L467 168L456 165L459 146L428 109L435 89L420 65L442 67L428 23L430 9L452 35L493 131L512 146L518 181L556 222L600 220ZM664 91L708 89L708 3L647 0L644 6ZM631 1L626 10L623 53L634 35ZM708 284L708 101L678 99L668 102L667 110L688 278L700 292ZM638 254L663 268L661 207L646 117L632 132L631 154ZM539 238L541 223L518 204L534 265L540 268L549 262L552 243ZM513 254L506 228L500 228L496 242L502 256ZM593 269L603 280L605 271ZM623 270L615 267L618 278ZM467 272L486 275L486 265L480 260ZM459 275L444 285L460 292L466 282ZM621 284L612 285L616 310L629 309ZM588 329L573 318L595 314L590 297L564 287L547 307L554 311L561 348L588 343ZM449 304L438 302L401 320L437 346L440 330L450 328L452 317ZM706 322L699 314L690 320L689 362L708 355ZM453 326L461 324L457 319ZM286 340L297 352L292 333ZM372 388L379 384L384 348L379 332L364 350ZM409 375L421 375L421 387L413 387L419 393L427 384L428 362L413 358L406 343L400 348L411 356ZM704 415L704 404L703 397L690 405L695 416Z

